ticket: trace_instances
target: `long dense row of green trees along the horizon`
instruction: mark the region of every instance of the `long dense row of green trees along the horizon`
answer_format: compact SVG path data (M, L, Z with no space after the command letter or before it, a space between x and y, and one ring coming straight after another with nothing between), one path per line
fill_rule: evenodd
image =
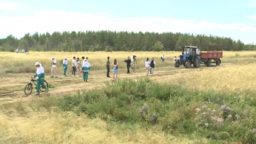
M230 37L172 32L53 32L26 33L20 39L9 35L0 39L0 51L168 51L186 45L220 45L224 50L253 50L252 44ZM204 49L202 49L204 50Z

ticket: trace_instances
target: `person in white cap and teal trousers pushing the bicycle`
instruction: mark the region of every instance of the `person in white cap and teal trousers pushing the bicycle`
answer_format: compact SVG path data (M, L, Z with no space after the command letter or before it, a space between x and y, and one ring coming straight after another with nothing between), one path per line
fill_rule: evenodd
M36 62L35 66L37 66L38 68L33 78L37 78L37 94L36 95L40 95L40 92L39 92L40 85L42 85L43 89L47 90L46 86L44 85L44 67L39 62Z

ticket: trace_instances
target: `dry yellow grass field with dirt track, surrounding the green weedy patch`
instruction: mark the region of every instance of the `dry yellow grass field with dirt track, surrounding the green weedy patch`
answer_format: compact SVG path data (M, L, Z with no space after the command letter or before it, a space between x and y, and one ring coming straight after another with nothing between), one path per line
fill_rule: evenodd
M125 58L137 55L137 72L126 74ZM166 61L161 63L160 56ZM45 109L49 97L75 95L79 90L101 89L106 78L106 60L119 62L119 79L146 77L144 60L156 59L154 76L149 79L166 84L177 84L190 91L211 92L221 95L247 95L255 101L256 52L224 52L221 66L204 66L186 69L175 68L173 57L180 52L28 52L15 54L0 52L0 143L208 143L197 135L170 135L157 125L150 129L134 124L107 123L102 118L88 118L86 114L63 112L57 107ZM73 56L89 57L91 71L89 82L81 77L71 77ZM49 78L51 57L57 60L58 78ZM67 77L62 76L62 60L68 58ZM35 62L41 62L49 83L49 94L36 97L24 95L30 76L36 72ZM112 70L110 72L112 74ZM112 76L112 75L111 75ZM35 93L35 89L33 89ZM39 101L39 102L38 102ZM35 110L32 105L38 104ZM225 141L222 141L225 143ZM236 141L235 143L239 143Z

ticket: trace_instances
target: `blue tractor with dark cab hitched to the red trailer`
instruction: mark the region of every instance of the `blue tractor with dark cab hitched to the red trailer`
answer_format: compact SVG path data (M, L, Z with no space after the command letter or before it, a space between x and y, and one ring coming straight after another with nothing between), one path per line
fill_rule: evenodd
M193 64L194 67L199 67L201 64L201 49L196 46L185 46L183 55L179 55L179 58L175 61L174 66L180 65L189 68Z

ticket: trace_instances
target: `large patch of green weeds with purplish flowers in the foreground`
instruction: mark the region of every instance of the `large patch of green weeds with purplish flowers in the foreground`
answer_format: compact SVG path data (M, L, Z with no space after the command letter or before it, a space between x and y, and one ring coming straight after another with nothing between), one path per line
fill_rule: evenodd
M58 107L117 124L157 126L166 134L208 138L212 142L256 141L256 102L247 94L189 91L182 85L148 78L106 82L102 89L50 97L29 103L34 111ZM26 113L19 104L15 107Z

